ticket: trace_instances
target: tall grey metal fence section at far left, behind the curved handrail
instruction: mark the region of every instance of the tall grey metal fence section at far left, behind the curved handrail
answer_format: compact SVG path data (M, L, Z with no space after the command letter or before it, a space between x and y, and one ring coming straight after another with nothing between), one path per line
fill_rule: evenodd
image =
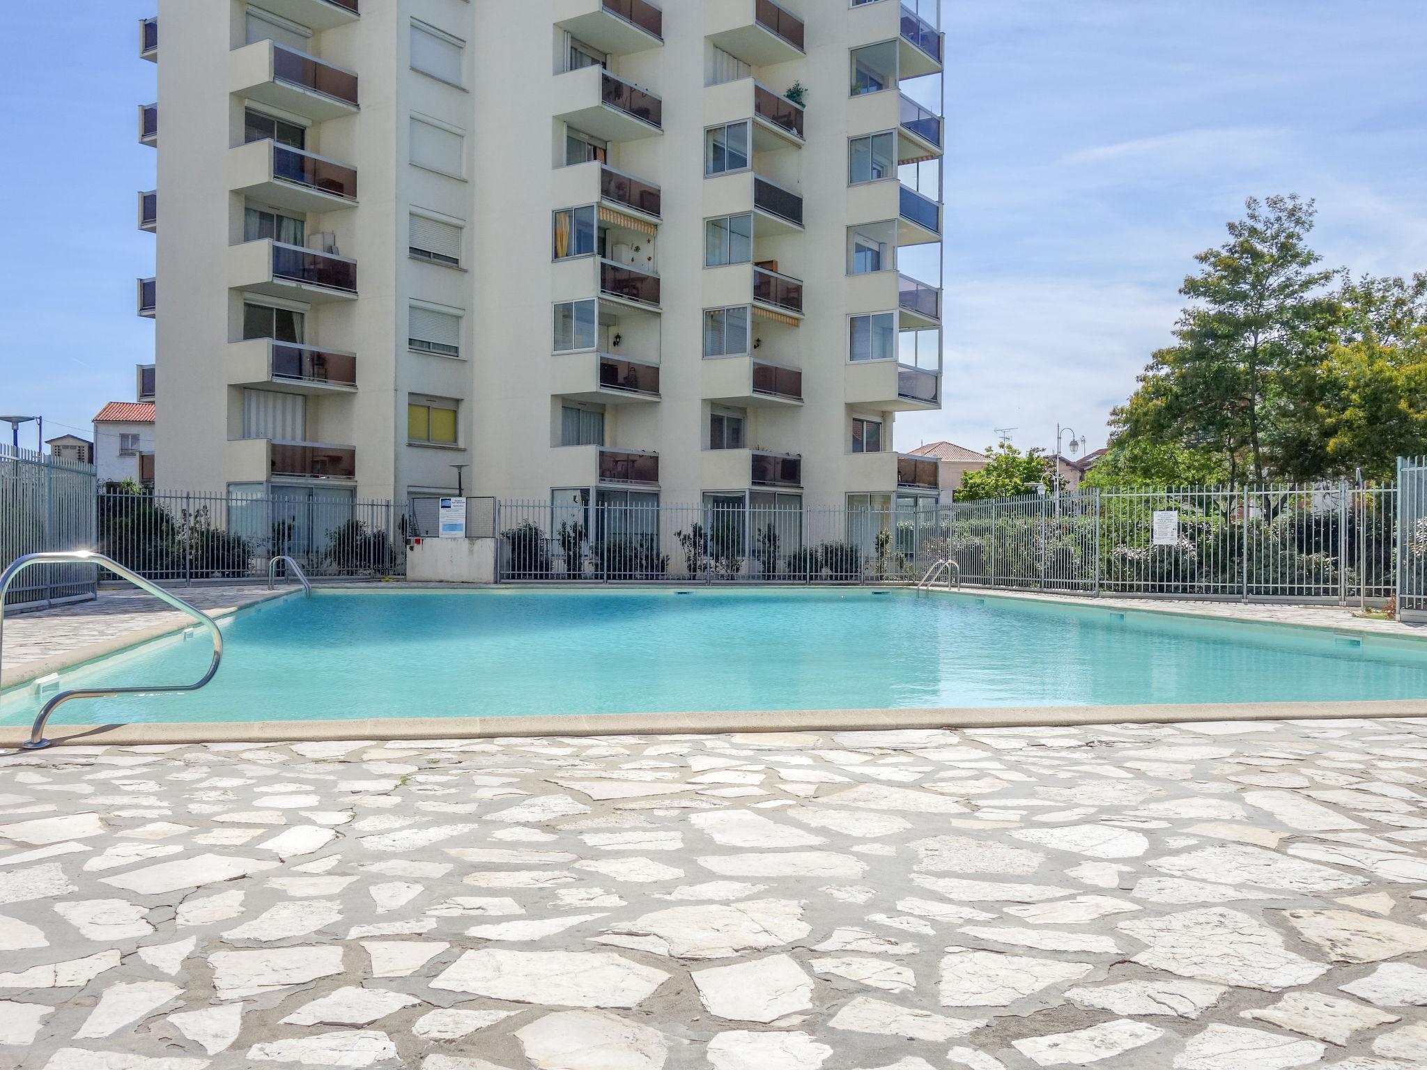
M41 549L94 545L94 465L0 444L0 571ZM21 572L6 606L94 598L93 565L40 565Z

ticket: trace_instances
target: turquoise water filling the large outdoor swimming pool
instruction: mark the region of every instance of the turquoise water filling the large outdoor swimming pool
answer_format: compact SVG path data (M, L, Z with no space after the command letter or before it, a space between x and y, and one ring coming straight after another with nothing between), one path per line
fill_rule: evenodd
M1427 698L1427 643L905 591L318 592L224 636L203 691L76 700L57 720ZM186 682L208 651L201 632L166 639L63 686ZM40 703L16 689L0 723Z

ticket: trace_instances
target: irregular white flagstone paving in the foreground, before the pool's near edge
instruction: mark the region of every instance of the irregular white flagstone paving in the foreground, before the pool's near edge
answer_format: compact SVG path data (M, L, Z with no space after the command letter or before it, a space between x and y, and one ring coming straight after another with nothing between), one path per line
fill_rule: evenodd
M0 756L0 1067L1427 1066L1427 722Z

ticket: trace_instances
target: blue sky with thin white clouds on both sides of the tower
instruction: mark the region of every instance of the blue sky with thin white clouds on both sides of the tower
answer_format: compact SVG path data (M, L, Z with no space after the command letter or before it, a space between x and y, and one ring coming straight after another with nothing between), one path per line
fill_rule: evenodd
M11 7L0 409L87 432L153 355L134 194L154 153L134 130L154 4ZM1316 197L1331 265L1427 270L1423 0L955 0L943 26L946 408L899 419L899 448L997 427L1049 447L1057 421L1103 445L1247 195Z

